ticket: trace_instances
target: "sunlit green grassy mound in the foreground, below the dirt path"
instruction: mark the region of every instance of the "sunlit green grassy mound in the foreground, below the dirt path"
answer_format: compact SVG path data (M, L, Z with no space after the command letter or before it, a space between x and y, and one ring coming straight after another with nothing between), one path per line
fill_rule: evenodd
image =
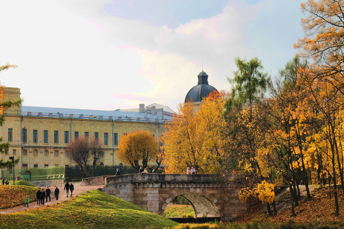
M177 223L98 190L86 192L60 204L0 217L1 229L159 229L173 225Z

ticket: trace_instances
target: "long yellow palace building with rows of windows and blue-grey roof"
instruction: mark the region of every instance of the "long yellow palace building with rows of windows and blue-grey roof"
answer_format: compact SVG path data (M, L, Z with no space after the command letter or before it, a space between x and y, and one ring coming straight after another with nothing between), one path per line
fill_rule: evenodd
M17 101L19 88L5 88L5 99ZM148 130L156 139L174 112L160 104L115 111L21 106L5 112L0 136L10 142L0 159L20 158L15 169L53 165L74 166L68 144L79 136L95 137L102 146L98 165L124 164L117 157L118 141L133 130Z

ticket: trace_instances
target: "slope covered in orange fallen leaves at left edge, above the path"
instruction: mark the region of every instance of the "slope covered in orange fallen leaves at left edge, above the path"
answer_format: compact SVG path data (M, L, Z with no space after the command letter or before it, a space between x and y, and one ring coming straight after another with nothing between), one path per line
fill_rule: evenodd
M26 196L36 201L37 188L20 185L0 185L0 209L24 205Z

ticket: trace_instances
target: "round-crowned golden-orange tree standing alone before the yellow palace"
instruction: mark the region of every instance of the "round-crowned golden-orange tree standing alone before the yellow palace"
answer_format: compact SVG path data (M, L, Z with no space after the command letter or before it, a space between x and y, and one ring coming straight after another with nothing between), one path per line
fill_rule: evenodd
M132 131L123 135L118 143L118 158L130 164L135 170L147 168L148 162L156 158L158 153L158 141L149 131Z

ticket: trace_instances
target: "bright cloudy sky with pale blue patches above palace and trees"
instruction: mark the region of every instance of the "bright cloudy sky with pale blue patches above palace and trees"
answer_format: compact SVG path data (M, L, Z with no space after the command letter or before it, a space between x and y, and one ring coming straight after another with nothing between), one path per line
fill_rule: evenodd
M0 0L0 72L25 106L176 111L203 70L229 91L234 58L272 77L298 50L305 0Z

